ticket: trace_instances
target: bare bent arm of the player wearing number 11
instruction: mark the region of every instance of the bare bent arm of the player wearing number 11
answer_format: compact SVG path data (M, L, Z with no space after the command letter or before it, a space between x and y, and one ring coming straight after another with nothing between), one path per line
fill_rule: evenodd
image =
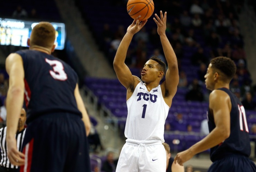
M210 149L227 139L230 135L231 102L229 95L221 90L214 90L210 94L209 108L216 127L204 139L195 143L188 150L178 153L174 162L182 165L195 154Z

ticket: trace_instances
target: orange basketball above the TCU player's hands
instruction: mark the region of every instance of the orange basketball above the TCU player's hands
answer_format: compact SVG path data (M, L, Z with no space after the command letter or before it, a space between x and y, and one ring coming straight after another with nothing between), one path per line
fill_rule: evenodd
M147 20L152 16L155 6L153 0L128 0L127 12L133 19Z

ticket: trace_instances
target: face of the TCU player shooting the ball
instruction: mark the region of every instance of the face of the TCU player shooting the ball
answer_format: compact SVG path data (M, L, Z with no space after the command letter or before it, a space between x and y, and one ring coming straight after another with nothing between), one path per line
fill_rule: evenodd
M148 60L141 72L141 80L144 82L155 81L158 77L158 62L155 60Z

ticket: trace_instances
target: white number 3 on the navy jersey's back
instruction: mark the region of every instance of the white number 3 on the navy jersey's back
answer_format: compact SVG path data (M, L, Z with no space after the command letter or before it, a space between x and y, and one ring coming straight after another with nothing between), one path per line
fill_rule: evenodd
M61 81L65 81L67 79L67 74L65 73L63 64L60 61L49 59L45 59L45 61L53 67L53 71L50 70L49 72L54 79Z

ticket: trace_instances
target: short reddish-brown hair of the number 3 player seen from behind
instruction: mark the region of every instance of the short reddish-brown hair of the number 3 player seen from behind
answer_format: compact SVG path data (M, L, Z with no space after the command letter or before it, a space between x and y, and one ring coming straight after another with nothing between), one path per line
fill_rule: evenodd
M55 38L56 30L49 22L38 23L31 32L30 46L37 45L45 48L52 48Z

